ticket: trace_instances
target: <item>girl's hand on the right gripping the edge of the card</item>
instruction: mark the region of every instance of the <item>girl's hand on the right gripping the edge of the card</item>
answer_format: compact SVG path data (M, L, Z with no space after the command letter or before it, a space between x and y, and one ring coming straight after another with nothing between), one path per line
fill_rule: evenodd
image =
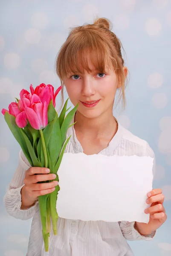
M151 204L151 207L145 209L145 213L150 213L150 219L148 224L135 223L135 229L141 235L150 235L153 231L157 230L167 219L165 208L163 207L164 195L162 195L162 189L153 189L147 194L147 204Z

